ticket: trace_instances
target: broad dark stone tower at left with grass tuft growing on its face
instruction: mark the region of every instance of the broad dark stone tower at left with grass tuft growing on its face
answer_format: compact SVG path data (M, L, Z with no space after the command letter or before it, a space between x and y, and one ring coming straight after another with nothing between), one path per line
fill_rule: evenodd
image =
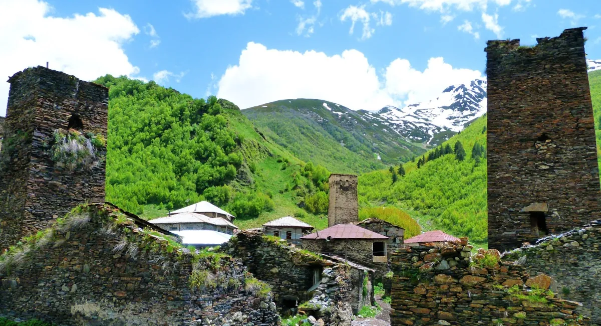
M0 251L79 203L105 200L108 88L41 66L8 82Z

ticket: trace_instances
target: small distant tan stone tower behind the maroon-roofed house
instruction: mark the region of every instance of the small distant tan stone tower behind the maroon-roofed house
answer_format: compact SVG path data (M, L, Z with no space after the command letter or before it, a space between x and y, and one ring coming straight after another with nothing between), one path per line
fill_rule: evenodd
M359 221L357 176L353 174L331 174L329 186L328 227Z

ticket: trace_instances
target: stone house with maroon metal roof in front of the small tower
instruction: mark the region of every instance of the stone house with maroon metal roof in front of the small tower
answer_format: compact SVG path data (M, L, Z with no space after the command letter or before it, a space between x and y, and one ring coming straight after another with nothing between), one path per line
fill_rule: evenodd
M356 226L337 224L301 237L302 247L314 253L334 254L361 265L387 266L388 236Z

